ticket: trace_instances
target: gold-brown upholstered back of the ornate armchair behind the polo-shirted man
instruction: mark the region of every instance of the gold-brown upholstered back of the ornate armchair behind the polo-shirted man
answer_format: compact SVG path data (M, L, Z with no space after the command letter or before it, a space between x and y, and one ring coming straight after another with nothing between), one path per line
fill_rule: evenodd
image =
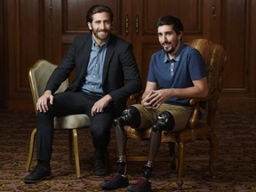
M220 44L212 44L207 39L194 39L188 42L188 44L195 47L202 54L207 65L209 92L205 103L206 121L211 129L213 129L215 113L219 107L219 95L222 89L222 72L226 61L226 52Z

